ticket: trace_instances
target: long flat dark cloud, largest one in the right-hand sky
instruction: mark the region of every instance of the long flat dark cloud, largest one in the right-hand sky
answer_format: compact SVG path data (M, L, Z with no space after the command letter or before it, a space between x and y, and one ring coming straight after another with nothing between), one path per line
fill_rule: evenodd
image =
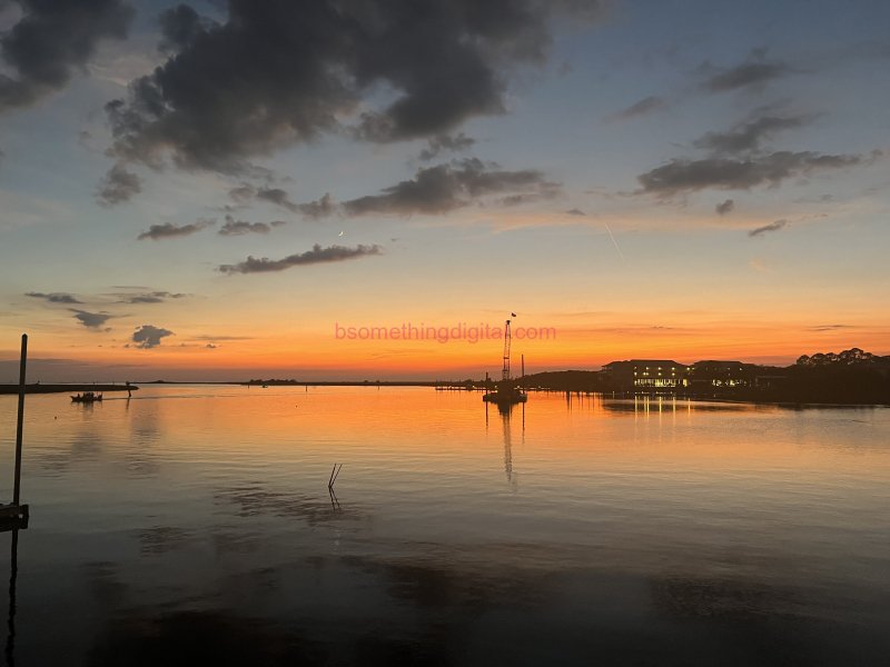
M671 198L684 192L714 188L749 190L755 186L779 186L783 180L812 171L841 169L867 161L858 155L832 156L812 151L778 151L749 158L674 159L637 177L642 192Z

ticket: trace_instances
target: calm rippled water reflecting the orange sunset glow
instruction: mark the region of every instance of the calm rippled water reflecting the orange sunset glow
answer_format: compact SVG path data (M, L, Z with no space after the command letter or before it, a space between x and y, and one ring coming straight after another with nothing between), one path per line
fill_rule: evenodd
M0 397L4 497L14 409ZM422 388L33 396L22 499L10 664L890 655L887 409L552 394L504 417L479 394Z

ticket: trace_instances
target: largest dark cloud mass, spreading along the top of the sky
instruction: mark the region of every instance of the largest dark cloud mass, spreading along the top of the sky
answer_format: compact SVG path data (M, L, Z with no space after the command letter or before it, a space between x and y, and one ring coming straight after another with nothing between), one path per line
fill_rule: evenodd
M438 136L502 113L511 71L540 63L550 19L601 0L230 0L224 23L165 14L178 51L106 107L112 152L237 172L357 119L372 141ZM382 96L380 91L389 91Z

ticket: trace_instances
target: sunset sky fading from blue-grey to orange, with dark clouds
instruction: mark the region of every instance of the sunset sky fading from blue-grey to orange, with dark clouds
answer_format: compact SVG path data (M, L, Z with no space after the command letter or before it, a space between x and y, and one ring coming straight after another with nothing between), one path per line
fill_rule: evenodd
M527 372L888 355L888 26L0 0L0 381L22 332L43 382L478 378L507 318Z

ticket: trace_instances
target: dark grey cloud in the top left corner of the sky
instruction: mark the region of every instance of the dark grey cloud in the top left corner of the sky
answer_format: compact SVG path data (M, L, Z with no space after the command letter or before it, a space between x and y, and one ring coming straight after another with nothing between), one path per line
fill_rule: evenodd
M63 88L106 38L123 39L135 11L122 0L17 0L22 17L0 39L16 77L0 73L0 111Z

